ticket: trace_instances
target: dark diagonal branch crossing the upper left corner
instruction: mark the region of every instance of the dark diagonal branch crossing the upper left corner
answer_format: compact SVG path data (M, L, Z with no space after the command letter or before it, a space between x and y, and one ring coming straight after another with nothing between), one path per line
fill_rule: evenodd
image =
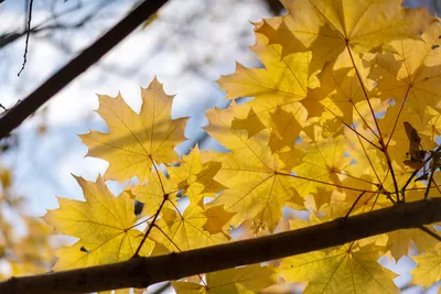
M144 0L110 31L98 39L94 44L83 51L77 57L72 59L23 99L14 109L8 111L0 119L0 139L7 137L52 96L95 64L129 33L138 28L138 25L155 13L166 1L168 0Z

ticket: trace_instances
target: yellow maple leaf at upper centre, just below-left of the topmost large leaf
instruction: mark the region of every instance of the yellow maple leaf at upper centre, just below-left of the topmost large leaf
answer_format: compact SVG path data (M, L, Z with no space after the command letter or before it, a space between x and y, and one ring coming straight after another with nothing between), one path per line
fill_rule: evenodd
M273 110L281 107L292 112L300 124L304 124L308 111L300 104L308 96L309 89L320 86L315 75L309 74L311 54L299 53L282 57L279 45L268 45L267 39L256 35L256 45L251 50L259 56L266 68L245 68L237 64L236 72L222 76L218 84L227 92L228 99L255 97L245 107L236 107L238 119L249 120L252 111L263 126L270 127ZM252 108L252 110L250 110ZM248 122L248 126L254 121Z

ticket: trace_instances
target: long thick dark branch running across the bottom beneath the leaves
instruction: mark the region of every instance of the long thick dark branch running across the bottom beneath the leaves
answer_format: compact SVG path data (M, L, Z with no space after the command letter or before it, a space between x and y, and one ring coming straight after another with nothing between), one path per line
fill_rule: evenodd
M198 273L280 259L365 237L441 221L441 198L397 204L347 219L182 253L136 258L101 266L12 277L0 293L87 293L148 285Z

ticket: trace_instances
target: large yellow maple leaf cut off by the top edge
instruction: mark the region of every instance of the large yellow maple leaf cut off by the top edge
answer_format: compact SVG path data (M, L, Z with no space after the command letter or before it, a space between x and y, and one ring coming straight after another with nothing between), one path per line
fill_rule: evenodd
M319 68L325 61L334 62L335 69L353 67L361 61L358 53L387 50L388 42L397 39L417 39L433 21L427 10L404 9L400 0L282 2L289 14L273 22L278 26L268 24L257 32L267 35L270 44L281 44L282 56L311 50Z

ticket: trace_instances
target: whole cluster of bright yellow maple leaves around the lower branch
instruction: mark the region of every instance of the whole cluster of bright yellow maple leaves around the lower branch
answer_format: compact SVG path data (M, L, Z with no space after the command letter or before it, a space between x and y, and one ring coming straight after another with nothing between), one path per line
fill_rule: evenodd
M56 232L79 239L57 252L55 269L228 242L240 226L254 236L273 233L284 207L310 211L309 220L291 221L297 229L441 196L437 164L422 162L441 133L441 23L400 0L282 2L286 15L256 24L251 50L265 68L237 64L218 80L227 99L252 99L207 111L206 132L229 152L195 146L180 157L173 148L185 139L186 120L171 119L173 97L157 79L141 89L139 113L119 95L99 96L109 132L82 140L88 155L110 165L96 183L78 178L86 202L60 198L61 208L45 216ZM420 167L416 177L430 173L429 186L411 177ZM140 184L117 197L104 182L132 177ZM143 204L139 215L136 202ZM395 274L377 260L387 252L398 260L410 241L428 251L416 258L413 283L440 280L437 239L412 229L173 286L248 293L279 274L288 283L309 282L305 293L397 293Z

